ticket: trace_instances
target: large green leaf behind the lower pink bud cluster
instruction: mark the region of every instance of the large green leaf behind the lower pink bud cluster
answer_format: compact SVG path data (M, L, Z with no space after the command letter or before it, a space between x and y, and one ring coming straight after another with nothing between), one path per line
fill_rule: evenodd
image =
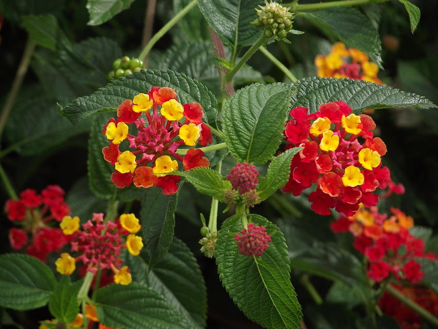
M234 234L242 230L236 215L219 231L216 264L219 278L245 315L267 328L300 328L301 307L290 280L287 246L277 226L260 215L250 220L263 225L272 241L260 257L240 254Z

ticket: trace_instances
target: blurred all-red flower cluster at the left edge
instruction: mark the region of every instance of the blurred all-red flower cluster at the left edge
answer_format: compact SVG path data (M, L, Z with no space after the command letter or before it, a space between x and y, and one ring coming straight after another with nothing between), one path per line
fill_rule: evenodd
M8 218L21 228L9 231L12 248L22 249L29 243L28 234L32 236L27 253L45 261L50 252L59 252L68 243L68 238L58 228L51 227L55 221L70 213L70 207L64 201L64 190L57 185L49 185L41 194L26 189L19 199L6 201L5 212Z

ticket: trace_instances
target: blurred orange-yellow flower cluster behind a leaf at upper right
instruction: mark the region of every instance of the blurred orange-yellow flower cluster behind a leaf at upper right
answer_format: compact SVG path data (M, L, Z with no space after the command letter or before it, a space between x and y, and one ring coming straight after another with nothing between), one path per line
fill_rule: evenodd
M367 55L355 48L346 48L342 42L336 42L329 55L317 55L315 65L318 77L349 77L382 84L377 77L379 67L370 62Z

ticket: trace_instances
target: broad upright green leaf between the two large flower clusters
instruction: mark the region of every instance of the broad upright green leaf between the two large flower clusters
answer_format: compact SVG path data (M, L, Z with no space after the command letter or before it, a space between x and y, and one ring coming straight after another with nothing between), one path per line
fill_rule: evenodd
M281 83L252 84L228 98L222 121L231 154L241 162L266 163L280 145L290 99Z

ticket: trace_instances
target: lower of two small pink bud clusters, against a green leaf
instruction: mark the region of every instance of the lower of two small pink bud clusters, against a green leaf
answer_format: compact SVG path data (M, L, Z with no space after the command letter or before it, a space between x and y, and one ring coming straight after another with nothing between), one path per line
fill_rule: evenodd
M236 233L234 240L238 241L237 247L242 255L260 257L271 242L271 236L266 233L266 229L253 223L249 223L248 229L243 229L240 233Z

